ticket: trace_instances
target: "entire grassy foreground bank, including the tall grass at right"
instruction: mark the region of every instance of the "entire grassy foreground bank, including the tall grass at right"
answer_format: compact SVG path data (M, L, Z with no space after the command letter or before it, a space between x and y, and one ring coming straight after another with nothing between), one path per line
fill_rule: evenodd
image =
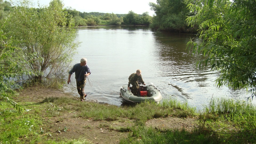
M22 112L10 109L9 104L2 101L0 143L96 143L89 140L88 137L91 135L68 137L72 135L70 129L73 127L72 124L77 123L74 122L76 119L81 122L98 122L95 127L96 124L90 123L80 126L81 131L105 130L107 132L103 131L101 134L107 135L111 132L109 137L106 137L110 140L116 135L124 135L116 141L117 143L256 142L256 109L246 102L215 99L203 111L196 112L194 108L188 108L186 104L175 99L161 104L141 103L118 107L95 102L79 102L68 95L52 95L35 101L28 94L14 97L23 108ZM180 120L175 121L174 118ZM68 119L72 121L67 123ZM172 122L168 119L172 119ZM191 130L168 127L179 124L187 127L187 119L195 119ZM152 121L161 121L161 124L148 125L153 123ZM122 125L114 126L114 123ZM81 131L78 130L79 133ZM63 134L66 136L62 137ZM93 137L99 138L95 134ZM106 140L106 143L109 141Z

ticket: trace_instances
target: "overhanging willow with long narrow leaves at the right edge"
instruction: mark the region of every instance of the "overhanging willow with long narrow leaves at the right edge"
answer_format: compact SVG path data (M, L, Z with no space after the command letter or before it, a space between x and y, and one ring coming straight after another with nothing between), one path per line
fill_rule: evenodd
M194 54L208 58L199 67L211 65L220 71L217 86L248 88L256 92L256 10L255 0L188 0L195 15L187 18L189 25L199 24L202 43L188 42Z

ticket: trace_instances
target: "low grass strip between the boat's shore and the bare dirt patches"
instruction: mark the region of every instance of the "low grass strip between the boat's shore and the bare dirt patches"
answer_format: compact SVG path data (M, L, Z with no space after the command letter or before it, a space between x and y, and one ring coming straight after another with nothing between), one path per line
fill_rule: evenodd
M175 105L173 105L175 103ZM187 117L194 112L195 108L190 108L175 100L157 104L154 102L139 103L131 106L118 107L114 105L102 105L99 103L86 103L81 105L81 114L78 116L93 118L94 120L113 121L120 118L135 119L137 124L145 125L145 122L152 118L168 117L169 115ZM176 109L174 111L174 109Z

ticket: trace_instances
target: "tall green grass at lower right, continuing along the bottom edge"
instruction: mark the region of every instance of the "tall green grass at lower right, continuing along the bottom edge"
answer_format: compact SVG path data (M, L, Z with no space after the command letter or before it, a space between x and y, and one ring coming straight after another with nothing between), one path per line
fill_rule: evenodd
M122 139L126 143L255 143L255 106L248 102L230 99L215 99L205 106L204 113L195 114L203 117L198 120L206 121L203 127L195 128L195 133L185 130L161 130L152 127L134 127L128 138ZM173 107L174 111L182 109L191 113L195 109L187 107L176 100L163 101L162 107ZM210 114L208 115L208 112ZM233 124L237 125L234 126ZM251 130L251 131L246 131Z

